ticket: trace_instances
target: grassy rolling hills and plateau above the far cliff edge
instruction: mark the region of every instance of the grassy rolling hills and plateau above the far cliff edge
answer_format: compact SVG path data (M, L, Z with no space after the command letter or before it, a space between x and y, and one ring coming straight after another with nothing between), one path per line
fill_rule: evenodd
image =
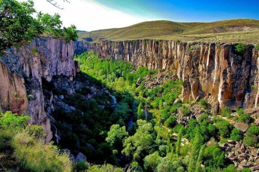
M149 21L124 28L78 33L78 40L91 37L105 40L163 39L199 42L259 43L259 20L231 19L211 23Z

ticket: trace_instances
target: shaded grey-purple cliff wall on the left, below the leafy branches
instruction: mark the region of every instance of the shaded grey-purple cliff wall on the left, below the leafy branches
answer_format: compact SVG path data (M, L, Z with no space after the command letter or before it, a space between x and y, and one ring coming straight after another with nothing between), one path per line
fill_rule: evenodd
M29 49L36 49L32 55ZM54 75L75 77L74 43L57 39L37 39L20 51L9 50L0 60L0 102L4 110L31 116L30 124L42 125L52 138L48 114L44 111L42 78L51 81Z

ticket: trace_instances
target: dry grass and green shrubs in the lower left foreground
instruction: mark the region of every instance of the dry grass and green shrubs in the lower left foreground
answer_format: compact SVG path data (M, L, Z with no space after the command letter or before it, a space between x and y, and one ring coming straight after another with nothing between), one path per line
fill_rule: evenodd
M0 165L6 171L71 171L66 153L44 144L43 128L26 125L28 116L0 114ZM11 126L11 127L7 127Z

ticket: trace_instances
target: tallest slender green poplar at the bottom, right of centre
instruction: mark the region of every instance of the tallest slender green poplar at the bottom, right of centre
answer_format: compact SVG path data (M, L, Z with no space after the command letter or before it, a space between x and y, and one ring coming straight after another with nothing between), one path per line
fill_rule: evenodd
M189 172L195 171L195 167L196 167L196 163L197 163L197 160L199 157L199 151L200 151L202 143L203 143L202 136L200 135L199 132L196 132L196 135L195 135L193 143L192 143L190 162L188 165Z

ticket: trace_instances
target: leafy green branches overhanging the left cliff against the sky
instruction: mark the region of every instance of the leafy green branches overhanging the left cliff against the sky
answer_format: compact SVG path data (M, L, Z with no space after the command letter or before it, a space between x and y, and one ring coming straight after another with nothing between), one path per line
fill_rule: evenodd
M31 43L37 37L51 37L64 39L66 42L75 41L77 38L76 27L62 28L60 15L36 13L34 3L17 2L16 0L0 1L0 54L7 48L21 47Z

